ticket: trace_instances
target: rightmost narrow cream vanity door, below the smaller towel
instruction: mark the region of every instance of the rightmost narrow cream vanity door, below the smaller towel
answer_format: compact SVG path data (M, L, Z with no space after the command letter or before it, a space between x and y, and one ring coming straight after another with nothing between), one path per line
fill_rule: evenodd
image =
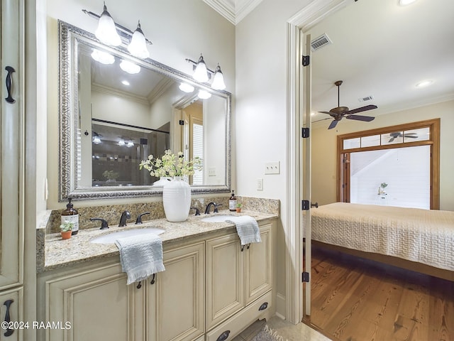
M272 224L260 227L260 237L244 254L246 305L272 288Z

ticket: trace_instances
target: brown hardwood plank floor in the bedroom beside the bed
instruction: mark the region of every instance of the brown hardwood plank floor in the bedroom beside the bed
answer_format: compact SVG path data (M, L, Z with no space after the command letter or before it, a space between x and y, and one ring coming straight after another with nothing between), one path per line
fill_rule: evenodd
M332 340L454 341L454 282L313 249L311 315Z

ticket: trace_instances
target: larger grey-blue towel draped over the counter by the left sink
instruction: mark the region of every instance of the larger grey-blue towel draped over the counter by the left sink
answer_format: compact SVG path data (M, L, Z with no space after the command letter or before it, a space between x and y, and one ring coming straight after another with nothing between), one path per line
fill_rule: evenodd
M165 271L162 263L162 241L155 234L139 234L118 238L115 241L120 250L123 272L128 274L128 284Z

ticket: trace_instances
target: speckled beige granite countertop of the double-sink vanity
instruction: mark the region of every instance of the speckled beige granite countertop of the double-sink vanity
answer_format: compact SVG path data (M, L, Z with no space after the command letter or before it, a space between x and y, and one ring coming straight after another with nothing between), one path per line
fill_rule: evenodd
M223 210L218 213L211 213L210 215L191 215L184 222L168 222L165 219L159 219L149 220L140 225L131 223L126 227L112 226L109 229L80 229L79 233L70 239L62 239L60 233L45 234L42 243L43 250L38 250L38 272L50 271L52 269L81 264L95 259L103 259L109 256L119 256L119 251L115 244L96 244L90 242L90 239L101 234L117 232L124 229L157 227L165 230L165 232L159 234L159 237L162 239L162 246L165 249L165 246L172 242L181 242L184 239L201 237L203 235L209 237L209 234L224 229L234 229L235 226L228 222L202 221L204 217L213 217L214 215L249 215L258 222L277 217L275 214L248 210L240 213Z

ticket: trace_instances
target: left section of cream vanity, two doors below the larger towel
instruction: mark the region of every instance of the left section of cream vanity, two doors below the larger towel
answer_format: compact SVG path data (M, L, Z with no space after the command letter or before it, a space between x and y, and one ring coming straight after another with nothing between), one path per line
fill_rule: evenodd
M199 242L165 250L165 271L130 285L118 263L43 274L46 311L41 320L61 325L45 330L45 340L189 341L203 337L204 248L205 243Z

